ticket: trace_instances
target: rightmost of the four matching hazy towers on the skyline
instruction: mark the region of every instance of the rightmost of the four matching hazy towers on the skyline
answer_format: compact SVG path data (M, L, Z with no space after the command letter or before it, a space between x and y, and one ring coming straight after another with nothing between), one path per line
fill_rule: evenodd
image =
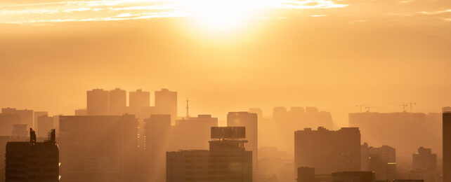
M177 119L177 92L171 92L165 88L155 91L155 107L159 114L170 114L171 123Z

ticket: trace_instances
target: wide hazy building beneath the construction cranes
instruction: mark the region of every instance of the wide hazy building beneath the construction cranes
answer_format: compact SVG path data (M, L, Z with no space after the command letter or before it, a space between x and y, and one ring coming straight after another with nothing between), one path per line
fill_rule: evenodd
M396 146L397 155L402 158L410 158L418 146L440 146L437 132L440 123L426 120L425 113L363 112L349 113L348 118L349 126L360 128L363 141L375 146Z

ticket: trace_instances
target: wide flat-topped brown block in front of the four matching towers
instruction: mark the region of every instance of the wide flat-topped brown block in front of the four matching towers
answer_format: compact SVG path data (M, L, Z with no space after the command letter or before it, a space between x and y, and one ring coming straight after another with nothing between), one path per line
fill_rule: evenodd
M61 181L138 178L138 121L124 116L60 116Z

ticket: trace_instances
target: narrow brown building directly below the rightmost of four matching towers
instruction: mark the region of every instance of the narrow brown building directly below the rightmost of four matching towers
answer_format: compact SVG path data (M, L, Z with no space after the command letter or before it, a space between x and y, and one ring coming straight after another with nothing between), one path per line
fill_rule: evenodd
M150 181L165 181L166 151L171 144L171 115L151 115L145 123L145 164Z

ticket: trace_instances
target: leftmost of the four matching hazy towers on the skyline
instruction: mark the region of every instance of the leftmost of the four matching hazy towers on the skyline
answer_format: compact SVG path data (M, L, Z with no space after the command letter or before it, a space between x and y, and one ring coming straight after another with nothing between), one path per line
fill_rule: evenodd
M93 89L86 92L86 115L105 116L108 115L108 96L107 90Z

